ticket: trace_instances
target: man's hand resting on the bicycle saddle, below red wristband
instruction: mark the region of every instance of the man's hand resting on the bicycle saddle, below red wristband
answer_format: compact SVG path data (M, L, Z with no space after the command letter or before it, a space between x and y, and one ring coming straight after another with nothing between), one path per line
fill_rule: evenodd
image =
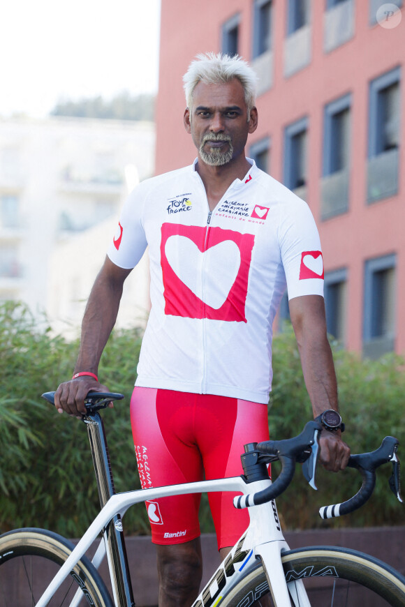
M66 412L68 415L82 418L86 413L84 398L89 392L109 392L106 386L96 382L93 377L82 376L69 382L60 384L55 392L55 407L59 413ZM112 403L108 405L112 407Z

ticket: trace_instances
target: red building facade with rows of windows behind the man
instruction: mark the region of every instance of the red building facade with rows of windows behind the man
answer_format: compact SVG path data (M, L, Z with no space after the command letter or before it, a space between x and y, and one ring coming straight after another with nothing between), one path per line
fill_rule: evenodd
M328 331L367 357L404 353L402 0L162 0L157 173L196 156L182 75L211 51L238 53L258 74L246 151L314 213Z

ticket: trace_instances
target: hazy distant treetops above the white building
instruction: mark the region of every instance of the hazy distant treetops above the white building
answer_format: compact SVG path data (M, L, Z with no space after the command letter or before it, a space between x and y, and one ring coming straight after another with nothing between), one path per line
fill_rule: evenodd
M144 93L132 97L128 91L122 91L111 100L101 96L60 100L50 113L52 116L154 121L154 105L153 95Z

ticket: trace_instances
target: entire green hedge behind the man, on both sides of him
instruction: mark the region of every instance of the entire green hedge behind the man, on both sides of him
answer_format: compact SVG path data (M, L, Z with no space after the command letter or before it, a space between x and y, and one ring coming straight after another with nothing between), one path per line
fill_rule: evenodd
M117 491L138 488L139 479L129 420L129 401L141 343L136 329L113 331L101 360L100 377L124 401L103 413ZM274 338L274 382L270 398L270 435L297 434L311 419L311 405L302 379L293 331ZM13 527L47 527L78 537L98 512L98 493L87 431L78 419L59 415L40 398L71 377L78 343L52 335L34 322L22 304L0 305L0 531ZM344 435L353 452L371 451L385 435L405 444L404 359L395 356L362 361L355 354L334 352L339 380ZM399 452L401 456L401 451ZM279 497L287 528L333 525L404 524L403 507L388 488L387 470L378 473L370 502L334 523L322 521L318 508L341 502L360 487L353 470L332 474L318 470L314 492L299 469L286 495ZM274 471L277 465L274 464ZM291 505L293 504L293 506ZM203 497L202 531L212 531ZM128 534L149 533L145 508L134 507L124 519Z

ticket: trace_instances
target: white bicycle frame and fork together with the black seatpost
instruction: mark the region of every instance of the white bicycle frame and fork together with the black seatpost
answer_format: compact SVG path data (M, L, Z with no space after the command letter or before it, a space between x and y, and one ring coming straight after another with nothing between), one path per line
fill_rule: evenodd
M57 575L54 576L43 596L40 597L37 607L46 607L59 585L70 574L75 564L101 533L104 542L102 541L96 550L93 564L98 567L105 553L107 553L115 605L117 607L132 607L135 605L121 524L121 517L124 516L129 507L146 500L156 500L159 497L184 495L186 493L225 491L247 495L247 493L263 490L272 482L270 479L266 479L246 484L241 476L116 494L103 420L100 414L95 412L84 416L84 422L87 424L89 433L102 509L59 569ZM231 500L232 496L229 499ZM246 575L256 566L257 559L260 559L263 563L267 583L276 606L290 605L288 598L288 591L290 591L293 599L296 599L297 605L310 607L302 582L300 580L288 584L285 582L281 553L283 550L289 550L289 548L281 532L275 501L272 500L270 503L250 507L248 511L250 516L249 527L237 541L230 554L216 569L192 607L215 607L221 597L225 596L235 586L240 576ZM260 594L263 594L266 590L266 587L256 589L255 597L252 597L251 602L257 600ZM71 607L77 606L81 597L82 590L79 588Z

